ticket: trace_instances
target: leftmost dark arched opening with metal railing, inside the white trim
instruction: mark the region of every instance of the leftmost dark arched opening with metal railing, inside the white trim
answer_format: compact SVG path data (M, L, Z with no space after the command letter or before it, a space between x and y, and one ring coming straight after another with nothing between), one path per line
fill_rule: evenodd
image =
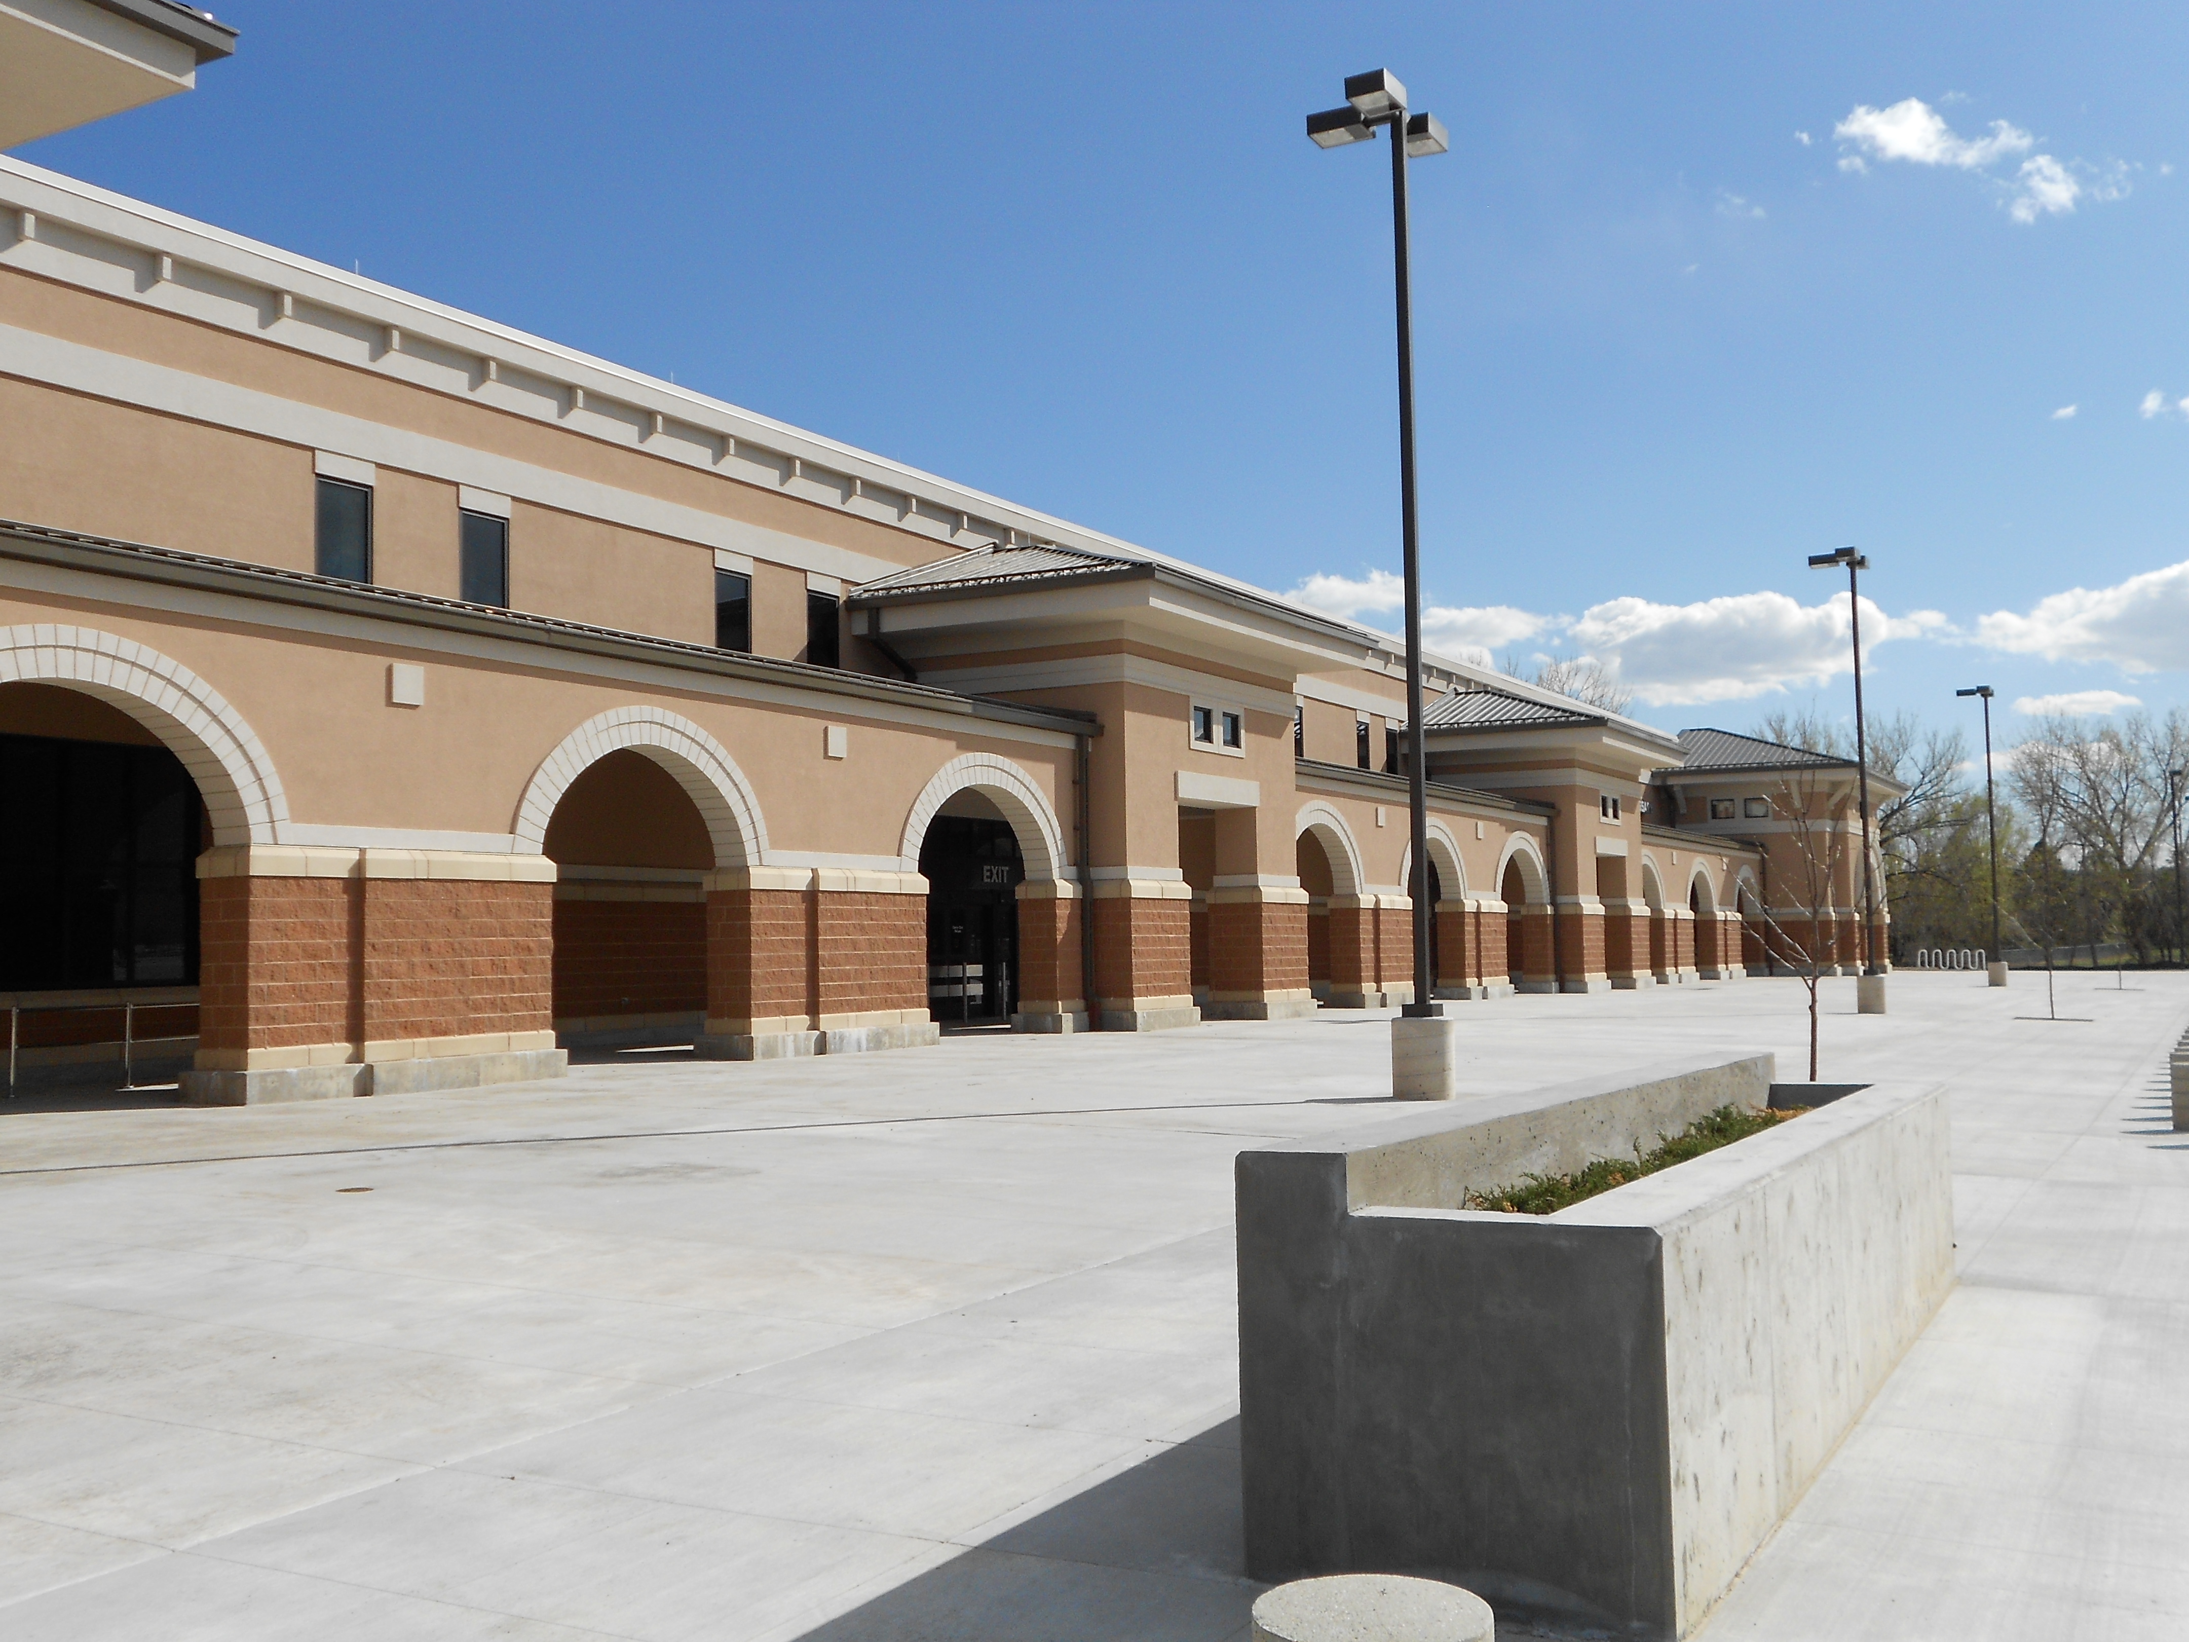
M188 1066L197 856L212 834L190 768L123 707L63 683L0 683L0 1011L13 1009L18 1044L7 1095L114 1088L125 1055L136 1084Z

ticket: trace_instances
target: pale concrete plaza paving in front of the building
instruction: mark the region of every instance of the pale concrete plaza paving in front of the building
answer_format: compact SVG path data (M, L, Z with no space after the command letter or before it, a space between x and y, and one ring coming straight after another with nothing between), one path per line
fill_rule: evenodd
M1705 1635L2189 1633L2189 979L1826 985L1955 1092L1961 1287ZM1524 1090L1804 992L1453 1005ZM0 1114L0 1631L1235 1638L1230 1163L1386 1016Z

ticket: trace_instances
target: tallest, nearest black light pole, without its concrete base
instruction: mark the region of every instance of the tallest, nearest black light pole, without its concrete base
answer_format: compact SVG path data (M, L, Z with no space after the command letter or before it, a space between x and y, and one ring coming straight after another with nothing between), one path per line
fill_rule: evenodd
M1414 514L1414 300L1408 289L1405 162L1445 153L1451 142L1434 114L1405 112L1405 85L1388 68L1346 77L1346 105L1307 116L1316 147L1373 142L1390 127L1390 239L1399 287L1399 519L1405 534L1405 806L1414 841L1414 869L1405 893L1414 902L1414 1001L1401 1014L1440 1016L1429 961L1429 793L1421 736L1421 543Z

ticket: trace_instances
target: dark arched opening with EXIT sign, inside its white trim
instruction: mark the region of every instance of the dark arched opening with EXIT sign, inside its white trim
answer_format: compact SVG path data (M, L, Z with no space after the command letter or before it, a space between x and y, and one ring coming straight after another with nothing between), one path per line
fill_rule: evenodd
M928 1014L943 1027L994 1027L1018 1009L1018 830L994 797L959 788L919 841L928 880Z

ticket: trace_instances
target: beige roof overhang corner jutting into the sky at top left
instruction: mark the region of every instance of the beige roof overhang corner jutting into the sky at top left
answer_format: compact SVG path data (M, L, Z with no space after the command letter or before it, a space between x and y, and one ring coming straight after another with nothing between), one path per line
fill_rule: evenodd
M0 0L0 149L186 92L234 48L169 0Z

